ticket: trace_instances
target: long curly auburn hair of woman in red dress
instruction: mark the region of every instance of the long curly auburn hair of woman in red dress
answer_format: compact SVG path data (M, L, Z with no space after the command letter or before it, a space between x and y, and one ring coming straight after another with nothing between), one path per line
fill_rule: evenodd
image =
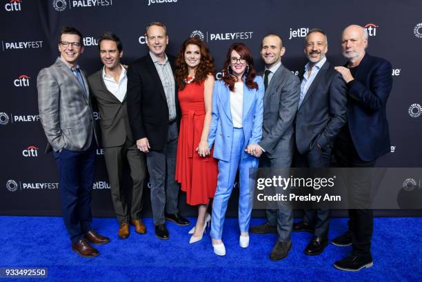
M179 54L177 55L176 60L176 82L180 90L185 88L185 79L188 78L189 74L188 65L186 65L185 62L185 50L190 44L198 46L201 52L201 61L199 61L199 65L195 70L194 82L200 84L201 82L205 81L205 79L207 79L208 74L214 73L214 59L212 59L210 50L208 50L208 47L205 45L205 43L196 37L187 39L180 46Z

